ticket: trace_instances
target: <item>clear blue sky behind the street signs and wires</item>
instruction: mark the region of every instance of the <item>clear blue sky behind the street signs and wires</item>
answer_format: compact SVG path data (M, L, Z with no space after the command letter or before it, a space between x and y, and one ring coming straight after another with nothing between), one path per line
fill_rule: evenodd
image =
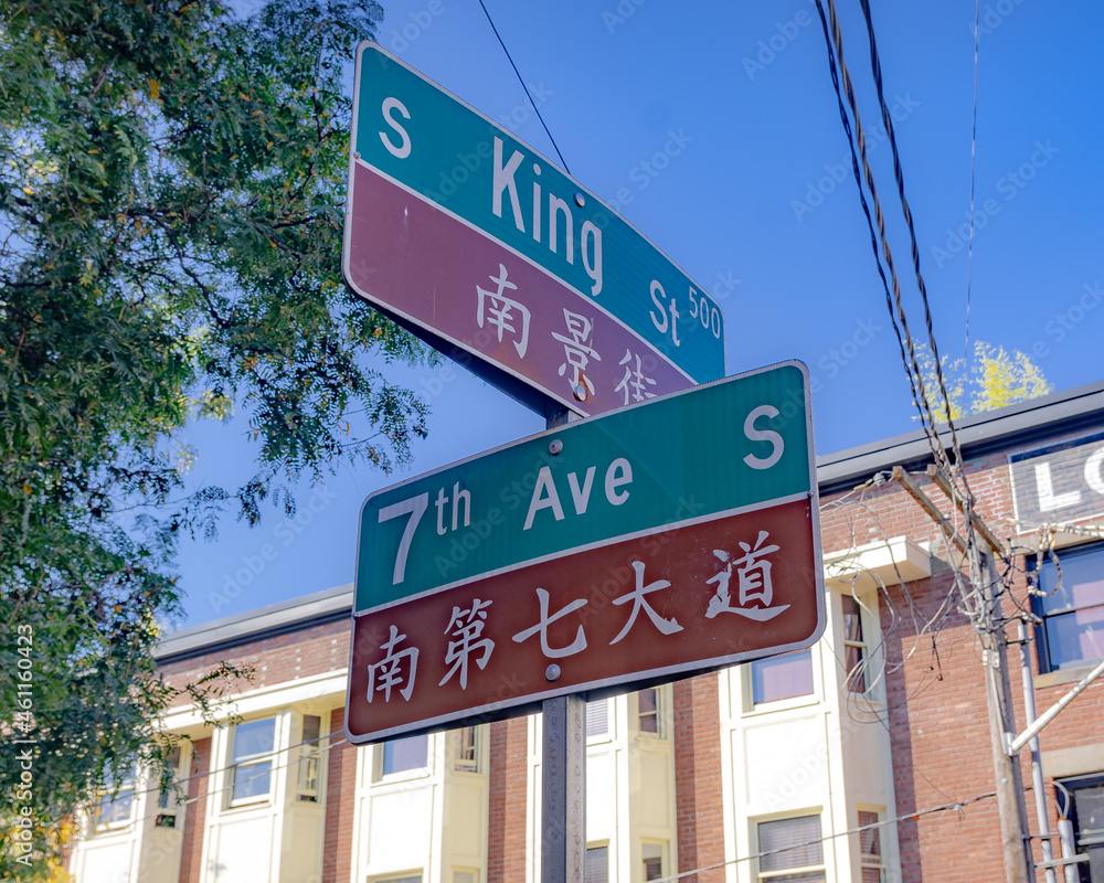
M822 454L917 428L843 164L814 3L486 2L571 174L721 302L729 374L806 362ZM864 26L854 0L839 7L910 322L922 333ZM974 3L874 7L936 339L959 357ZM384 10L384 47L555 158L476 0L392 0ZM1098 3L981 3L969 339L1033 354L1055 390L1104 379L1102 43ZM351 582L368 493L543 428L463 369L385 370L433 409L411 469L346 469L299 488L297 521L269 510L248 529L227 518L216 541L185 544L178 625ZM188 428L183 440L199 451L191 483L252 475L246 423Z

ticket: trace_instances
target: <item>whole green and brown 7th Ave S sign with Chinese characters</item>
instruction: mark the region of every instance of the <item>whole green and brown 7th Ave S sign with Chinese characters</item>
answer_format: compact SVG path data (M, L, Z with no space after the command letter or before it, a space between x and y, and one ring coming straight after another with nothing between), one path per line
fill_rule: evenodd
M808 402L787 362L370 496L350 740L810 646L825 614Z

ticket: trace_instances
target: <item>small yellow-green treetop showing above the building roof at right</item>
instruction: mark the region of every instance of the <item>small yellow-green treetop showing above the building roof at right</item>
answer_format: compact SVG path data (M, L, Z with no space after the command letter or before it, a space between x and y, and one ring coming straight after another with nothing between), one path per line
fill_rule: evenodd
M1019 350L1007 351L983 340L974 342L974 354L967 365L964 359L943 357L943 376L947 401L938 392L935 359L930 350L917 352L924 389L936 417L960 419L970 414L992 411L1017 402L1038 398L1051 392L1042 370Z

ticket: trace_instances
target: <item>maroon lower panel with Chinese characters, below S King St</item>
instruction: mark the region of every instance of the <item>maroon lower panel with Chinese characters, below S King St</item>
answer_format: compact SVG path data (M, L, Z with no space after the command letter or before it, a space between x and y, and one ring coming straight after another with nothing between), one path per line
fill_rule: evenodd
M353 185L346 277L361 297L581 414L691 385L601 297L581 297L361 162Z

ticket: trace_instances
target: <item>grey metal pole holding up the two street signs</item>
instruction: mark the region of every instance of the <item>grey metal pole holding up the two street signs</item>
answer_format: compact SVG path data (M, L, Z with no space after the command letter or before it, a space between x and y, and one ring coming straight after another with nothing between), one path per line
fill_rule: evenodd
M549 429L565 426L571 418L566 408L551 403L545 416ZM541 711L541 883L583 883L586 700L577 693L546 699Z

